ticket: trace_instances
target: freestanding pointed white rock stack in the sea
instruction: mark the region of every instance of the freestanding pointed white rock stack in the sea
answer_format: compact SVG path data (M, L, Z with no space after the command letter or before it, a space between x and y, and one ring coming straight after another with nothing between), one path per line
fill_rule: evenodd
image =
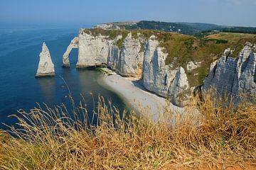
M36 72L36 77L48 77L54 76L54 64L50 58L50 52L46 46L46 42L43 42L42 52L40 53L40 61L38 64L38 70Z

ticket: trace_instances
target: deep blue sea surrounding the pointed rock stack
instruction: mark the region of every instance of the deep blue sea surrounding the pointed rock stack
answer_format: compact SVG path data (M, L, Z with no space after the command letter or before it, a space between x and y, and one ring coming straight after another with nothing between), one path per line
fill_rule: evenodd
M85 97L88 111L93 108L92 96L97 102L99 94L120 111L126 108L117 94L97 83L100 72L75 68L78 50L70 54L71 67L61 67L63 53L77 34L78 29L0 30L0 129L6 129L4 124L16 125L16 119L9 115L18 114L19 109L29 111L37 102L50 107L64 103L70 108L65 82L75 103L79 103L81 95ZM36 79L43 41L55 64L55 77Z

